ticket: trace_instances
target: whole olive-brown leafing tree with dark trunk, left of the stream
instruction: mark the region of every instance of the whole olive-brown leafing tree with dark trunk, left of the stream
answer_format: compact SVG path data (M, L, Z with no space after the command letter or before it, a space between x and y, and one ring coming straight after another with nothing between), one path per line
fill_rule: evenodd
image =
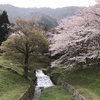
M34 20L19 18L16 23L17 25L12 28L16 34L9 36L2 43L1 49L9 59L22 64L24 75L27 77L31 61L37 63L43 61L42 58L45 58L44 53L47 52L49 43Z

